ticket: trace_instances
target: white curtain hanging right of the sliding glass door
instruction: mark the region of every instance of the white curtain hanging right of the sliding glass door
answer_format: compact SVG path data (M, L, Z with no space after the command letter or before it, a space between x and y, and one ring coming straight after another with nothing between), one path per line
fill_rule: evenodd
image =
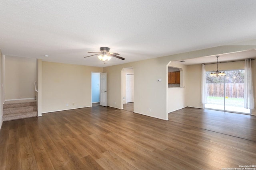
M254 109L251 59L244 62L244 108Z

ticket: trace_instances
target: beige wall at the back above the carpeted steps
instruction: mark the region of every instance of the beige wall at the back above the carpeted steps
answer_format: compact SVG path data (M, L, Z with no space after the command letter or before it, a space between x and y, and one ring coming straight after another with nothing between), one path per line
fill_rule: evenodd
M35 98L36 59L6 56L5 100Z

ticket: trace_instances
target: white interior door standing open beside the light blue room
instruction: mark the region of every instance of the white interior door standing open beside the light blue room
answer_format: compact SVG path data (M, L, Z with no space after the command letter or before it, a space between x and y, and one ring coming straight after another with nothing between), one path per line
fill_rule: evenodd
M107 106L107 73L100 73L100 106Z

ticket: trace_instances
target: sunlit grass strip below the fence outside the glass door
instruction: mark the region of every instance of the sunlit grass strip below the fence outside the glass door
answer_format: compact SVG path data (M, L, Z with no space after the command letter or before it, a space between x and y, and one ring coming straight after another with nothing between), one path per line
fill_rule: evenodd
M207 104L224 105L223 97L207 96ZM226 106L244 107L244 98L225 98Z

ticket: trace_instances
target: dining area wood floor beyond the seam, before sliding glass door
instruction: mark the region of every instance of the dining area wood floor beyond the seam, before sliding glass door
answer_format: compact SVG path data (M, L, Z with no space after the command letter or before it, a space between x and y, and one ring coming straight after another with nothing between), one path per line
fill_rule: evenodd
M168 115L169 121L256 142L256 116L186 107Z

